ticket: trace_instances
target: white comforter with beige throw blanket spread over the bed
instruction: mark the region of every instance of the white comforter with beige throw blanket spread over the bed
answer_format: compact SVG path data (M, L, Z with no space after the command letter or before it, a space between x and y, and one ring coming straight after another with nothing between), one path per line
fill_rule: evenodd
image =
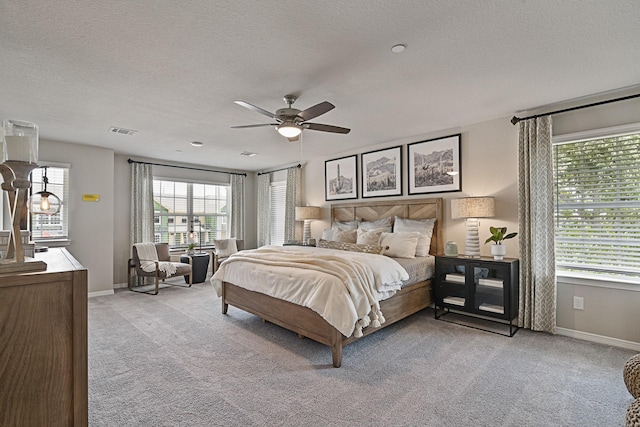
M300 246L264 246L238 252L211 278L308 307L346 337L385 319L379 301L400 289L407 272L393 259L374 254Z

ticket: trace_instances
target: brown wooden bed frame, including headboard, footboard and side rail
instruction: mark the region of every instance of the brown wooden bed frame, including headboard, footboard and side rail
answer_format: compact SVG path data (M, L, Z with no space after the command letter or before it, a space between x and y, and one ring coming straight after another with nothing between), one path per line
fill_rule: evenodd
M360 219L373 221L397 215L402 218L436 218L431 239L430 253L441 254L443 243L442 199L413 199L394 201L374 201L339 203L331 205L332 221ZM380 328L364 328L363 335L369 335L398 320L414 314L432 303L431 280L402 288L393 297L380 302L386 322ZM288 301L273 298L259 292L248 291L232 283L222 283L222 313L226 314L229 304L253 313L285 329L296 332L300 338L308 337L331 347L333 366L342 364L342 347L359 338L347 338L331 326L315 311Z

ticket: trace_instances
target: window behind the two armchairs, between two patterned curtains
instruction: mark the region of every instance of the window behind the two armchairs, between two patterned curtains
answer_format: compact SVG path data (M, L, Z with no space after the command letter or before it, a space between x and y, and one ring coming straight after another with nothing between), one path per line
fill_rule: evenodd
M228 185L153 180L156 241L170 246L206 246L228 235ZM193 231L193 234L191 232Z

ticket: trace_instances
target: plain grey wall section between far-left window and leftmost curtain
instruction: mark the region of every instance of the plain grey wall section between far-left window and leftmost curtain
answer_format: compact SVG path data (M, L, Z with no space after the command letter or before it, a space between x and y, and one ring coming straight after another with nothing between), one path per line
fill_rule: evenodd
M41 161L69 163L69 252L89 273L89 292L113 289L113 150L40 140ZM99 202L83 202L99 194Z

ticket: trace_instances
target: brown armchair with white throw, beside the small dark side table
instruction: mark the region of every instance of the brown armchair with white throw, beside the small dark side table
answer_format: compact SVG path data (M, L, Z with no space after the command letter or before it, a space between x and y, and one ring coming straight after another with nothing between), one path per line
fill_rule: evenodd
M173 262L169 256L169 245L167 243L136 243L133 245L133 257L129 259L129 268L127 272L127 284L129 290L151 294L152 291L140 291L133 289L132 270L135 272L136 283L141 285L141 281L145 277L155 278L155 292L158 294L159 281L164 282L167 277L171 276L189 276L189 286L193 284L192 260L189 258L189 264L183 262ZM180 286L180 285L173 285Z

